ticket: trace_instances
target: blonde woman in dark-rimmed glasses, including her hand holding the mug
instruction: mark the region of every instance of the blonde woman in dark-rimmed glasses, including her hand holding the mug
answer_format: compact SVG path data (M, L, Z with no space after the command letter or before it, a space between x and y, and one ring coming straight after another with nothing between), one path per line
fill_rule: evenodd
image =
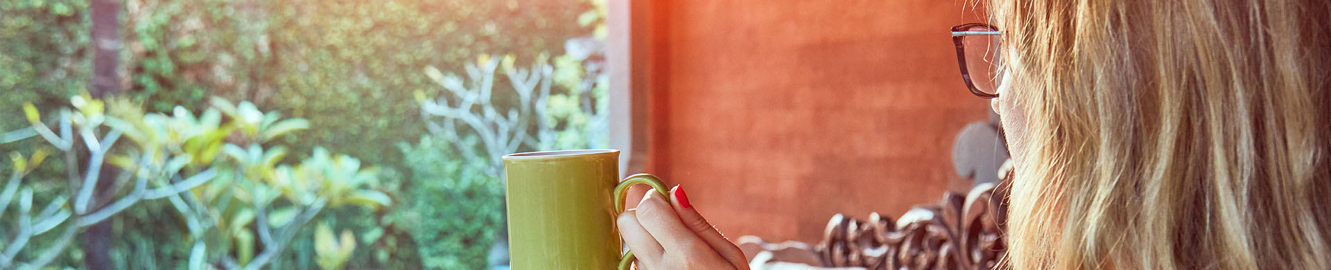
M953 35L1016 164L1006 267L1331 269L1328 1L994 0L989 13ZM747 269L671 194L619 218L640 267Z

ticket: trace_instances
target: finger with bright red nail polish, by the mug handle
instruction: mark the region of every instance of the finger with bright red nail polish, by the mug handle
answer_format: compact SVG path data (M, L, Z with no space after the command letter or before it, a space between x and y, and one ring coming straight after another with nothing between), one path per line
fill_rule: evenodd
M725 239L720 231L716 231L712 223L707 222L707 218L703 218L703 214L697 213L697 209L693 209L683 188L676 185L669 190L669 194L671 206L675 207L675 214L684 222L685 227L693 230L703 242L707 242L712 250L716 250L721 258L725 258L736 269L748 269L748 259L744 258L744 251L739 246L735 246L735 243L731 243L729 239Z

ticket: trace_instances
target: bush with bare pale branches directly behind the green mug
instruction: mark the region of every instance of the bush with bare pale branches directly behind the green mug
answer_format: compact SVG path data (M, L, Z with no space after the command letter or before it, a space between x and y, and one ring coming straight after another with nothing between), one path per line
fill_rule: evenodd
M413 174L407 193L415 197L399 217L415 225L409 230L426 267L486 266L495 237L504 233L500 156L604 144L603 76L570 56L530 69L514 67L514 59L483 56L466 67L467 80L426 68L450 94L422 93L421 116L433 134L398 145ZM494 84L500 74L507 86ZM552 93L555 84L568 90Z

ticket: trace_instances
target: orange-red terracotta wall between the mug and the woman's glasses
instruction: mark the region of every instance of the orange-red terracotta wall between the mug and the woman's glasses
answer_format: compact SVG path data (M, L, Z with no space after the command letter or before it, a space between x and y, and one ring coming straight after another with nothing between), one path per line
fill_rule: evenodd
M986 117L948 35L976 21L962 0L639 3L646 170L727 235L813 242L836 213L936 202L953 138Z

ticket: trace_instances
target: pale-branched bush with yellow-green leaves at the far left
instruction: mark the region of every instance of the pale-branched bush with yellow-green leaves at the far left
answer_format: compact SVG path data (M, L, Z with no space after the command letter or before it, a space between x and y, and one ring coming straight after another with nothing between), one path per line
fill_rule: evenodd
M165 227L182 230L166 230L162 235L142 235L142 231L134 234L144 238L176 238L192 245L186 247L166 243L162 247L189 251L142 247L117 250L117 254L129 258L145 258L141 253L161 255L146 255L148 259L137 262L121 261L121 266L156 267L164 263L168 267L184 265L190 269L205 265L282 269L285 247L301 237L313 237L319 246L313 254L318 265L339 269L351 259L357 245L355 234L343 230L341 237L333 237L326 227L327 222L319 222L321 230L313 234L302 233L302 227L311 221L317 222L315 217L325 207L362 205L379 209L393 203L387 194L373 189L378 182L378 172L362 168L357 158L315 148L309 158L295 166L280 164L286 154L285 148L262 144L305 129L307 122L299 118L282 120L276 112L264 113L248 101L233 105L216 98L213 106L197 117L178 106L172 114L144 113L125 100L102 102L88 96L73 96L71 104L75 110L63 109L57 117L47 117L55 118L55 129L41 121L36 106L27 104L24 112L31 128L0 136L7 141L40 137L49 142L49 148L63 152L67 168L88 165L85 173L71 172L69 185L60 185L68 190L57 189L53 196L40 197L39 200L52 200L43 202L48 205L32 214L31 205L40 190L33 189L33 185L20 189L20 180L45 160L47 150L39 149L31 157L12 154L11 177L0 189L0 217L8 217L3 214L11 200L17 198L20 207L13 226L16 230L0 227L4 230L0 233L15 235L5 241L4 249L27 250L29 239L53 237L43 233L63 233L48 245L32 249L41 251L7 251L0 257L0 267L43 267L64 254L63 250L81 227L112 218L136 205L146 205L145 209L156 213L154 217L137 222L176 218L176 226ZM88 148L87 156L80 154L79 148L83 146ZM118 168L109 172L120 173L109 176L102 166ZM100 180L98 173L114 177L116 185L95 188ZM120 196L112 201L98 201L92 196L95 192L106 192L104 189ZM176 214L161 215L162 210L174 210ZM55 230L57 227L63 229ZM164 227L164 223L153 227ZM330 238L335 238L335 243ZM145 242L150 241L130 241ZM134 255L136 253L140 255ZM182 254L188 254L188 258L180 258Z

